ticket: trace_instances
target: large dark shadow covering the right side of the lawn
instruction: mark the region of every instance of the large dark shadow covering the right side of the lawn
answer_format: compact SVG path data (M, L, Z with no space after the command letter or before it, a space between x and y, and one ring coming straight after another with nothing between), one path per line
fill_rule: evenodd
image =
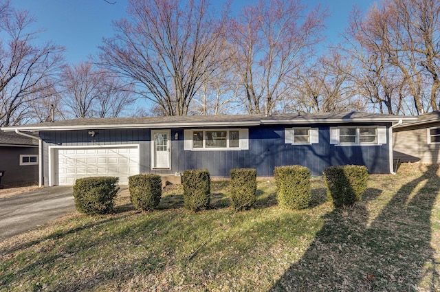
M271 291L417 291L422 278L428 291L439 291L439 262L430 247L437 170L428 166L401 186L376 218L363 203L326 214L309 249ZM369 189L364 199L380 192Z

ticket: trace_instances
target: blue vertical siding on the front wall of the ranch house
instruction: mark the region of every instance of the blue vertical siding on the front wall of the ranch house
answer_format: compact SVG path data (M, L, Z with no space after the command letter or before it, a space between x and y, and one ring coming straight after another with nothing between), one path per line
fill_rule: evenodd
M360 124L353 124L362 126ZM371 124L369 124L371 125ZM391 124L379 124L387 126ZM292 125L249 127L249 150L184 150L184 130L170 128L171 168L151 170L151 128L94 130L88 131L41 131L45 141L44 168L47 177L47 153L49 145L96 146L111 144L139 144L140 172L175 173L187 169L208 169L212 177L229 177L231 168L256 168L260 177L274 175L276 166L300 164L307 166L312 175L321 175L328 166L344 164L365 165L370 173L388 173L388 145L381 146L336 146L330 144L330 126L338 124L311 124L319 128L319 143L310 145L285 144L285 128ZM344 124L346 126L346 124ZM347 124L349 126L349 124ZM179 138L175 140L175 133ZM388 135L388 132L387 132ZM387 139L389 141L389 137Z

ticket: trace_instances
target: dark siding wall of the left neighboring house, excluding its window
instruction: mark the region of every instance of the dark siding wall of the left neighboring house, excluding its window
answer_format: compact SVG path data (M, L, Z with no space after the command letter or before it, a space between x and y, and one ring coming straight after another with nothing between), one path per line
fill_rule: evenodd
M38 147L0 147L0 170L5 170L1 178L2 185L30 183L39 181L39 166L20 166L20 155L38 155Z

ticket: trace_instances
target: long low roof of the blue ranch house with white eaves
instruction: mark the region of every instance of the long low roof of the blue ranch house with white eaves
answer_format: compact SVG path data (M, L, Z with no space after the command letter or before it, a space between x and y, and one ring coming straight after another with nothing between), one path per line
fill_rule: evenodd
M399 122L414 117L362 113L293 113L279 115L185 115L172 117L115 117L43 122L1 128L5 131L56 131L89 128L190 128L204 126L259 126L261 124L311 124L340 122Z

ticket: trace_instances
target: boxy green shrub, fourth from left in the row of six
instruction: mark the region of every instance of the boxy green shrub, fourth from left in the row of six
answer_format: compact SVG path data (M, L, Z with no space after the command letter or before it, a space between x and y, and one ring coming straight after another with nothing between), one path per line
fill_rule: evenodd
M232 168L230 174L231 205L235 210L249 210L256 202L256 170Z

